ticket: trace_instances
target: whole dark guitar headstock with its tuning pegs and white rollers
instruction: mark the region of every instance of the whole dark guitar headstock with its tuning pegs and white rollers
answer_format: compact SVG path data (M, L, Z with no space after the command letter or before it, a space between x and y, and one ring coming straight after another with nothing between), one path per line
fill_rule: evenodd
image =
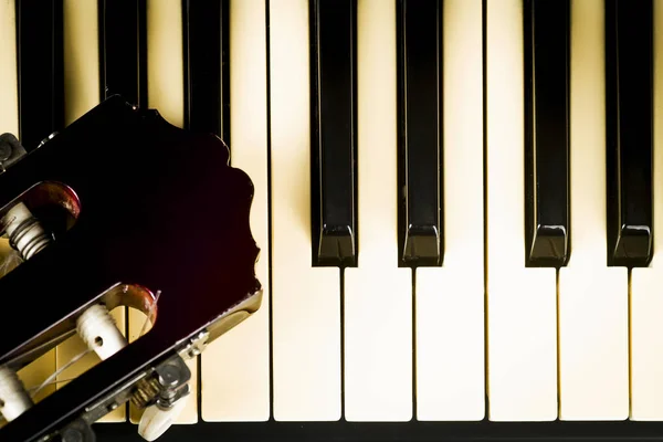
M0 440L92 438L128 401L157 420L176 408L183 361L260 307L252 199L219 138L119 96L0 169L0 234L20 255L0 277L15 318L0 322ZM118 306L149 333L127 343L108 322ZM31 403L12 376L75 334L101 362Z

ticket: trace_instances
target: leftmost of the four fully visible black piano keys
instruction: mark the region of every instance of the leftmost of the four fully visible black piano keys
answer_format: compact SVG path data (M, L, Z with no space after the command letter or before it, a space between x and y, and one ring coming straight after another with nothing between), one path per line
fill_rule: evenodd
M356 0L312 0L313 265L357 264Z

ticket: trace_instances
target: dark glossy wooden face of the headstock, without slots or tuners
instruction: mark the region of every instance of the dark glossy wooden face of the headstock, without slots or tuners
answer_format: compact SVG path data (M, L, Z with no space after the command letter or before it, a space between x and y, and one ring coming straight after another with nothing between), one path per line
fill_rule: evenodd
M148 334L10 422L1 441L66 423L260 288L253 185L228 161L215 136L112 97L0 175L0 208L41 181L70 186L82 208L67 233L0 280L3 312L30 312L21 327L0 322L0 364L118 282L162 292Z

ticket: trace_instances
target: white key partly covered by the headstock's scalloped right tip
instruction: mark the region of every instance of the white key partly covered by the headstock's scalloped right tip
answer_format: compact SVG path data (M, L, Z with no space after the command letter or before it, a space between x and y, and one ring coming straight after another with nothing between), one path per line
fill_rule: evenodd
M231 166L251 177L251 232L261 249L255 265L261 308L212 343L201 356L201 415L206 421L270 418L270 292L267 231L266 22L264 0L230 2Z

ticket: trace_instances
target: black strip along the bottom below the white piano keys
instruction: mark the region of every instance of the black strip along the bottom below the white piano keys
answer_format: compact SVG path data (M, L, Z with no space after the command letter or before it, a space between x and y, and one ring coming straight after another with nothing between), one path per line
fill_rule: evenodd
M99 423L98 442L144 442L136 425ZM663 422L200 422L159 442L662 442Z

